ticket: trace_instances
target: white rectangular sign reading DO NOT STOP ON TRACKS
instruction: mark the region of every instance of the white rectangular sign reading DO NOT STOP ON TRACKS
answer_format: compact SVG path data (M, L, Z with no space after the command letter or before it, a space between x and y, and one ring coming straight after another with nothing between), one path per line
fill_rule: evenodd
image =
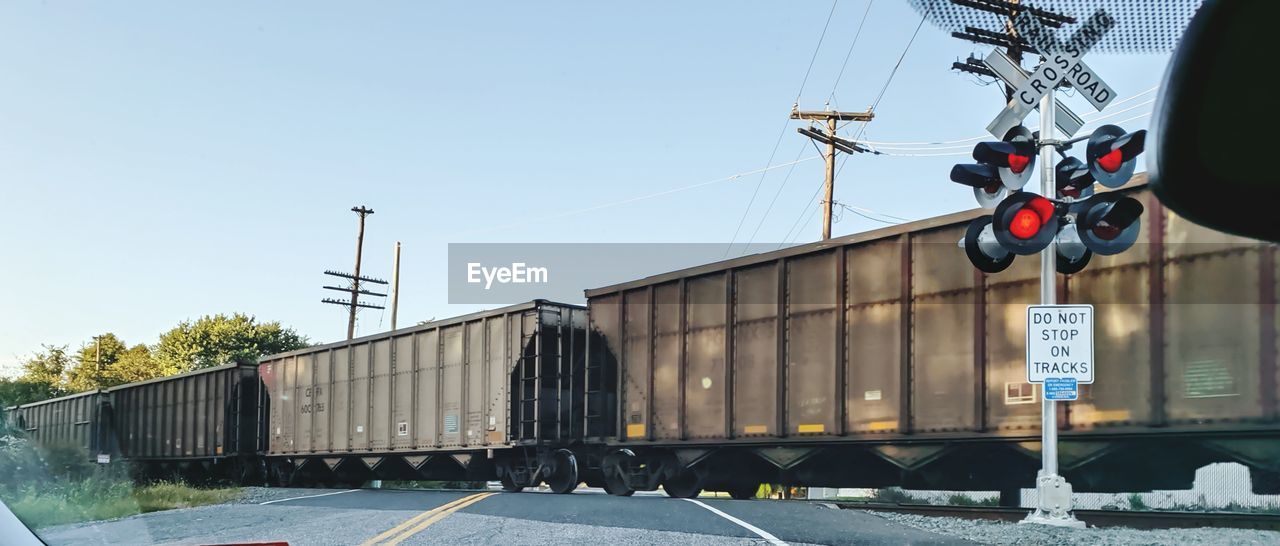
M1093 306L1027 307L1027 382L1093 382Z

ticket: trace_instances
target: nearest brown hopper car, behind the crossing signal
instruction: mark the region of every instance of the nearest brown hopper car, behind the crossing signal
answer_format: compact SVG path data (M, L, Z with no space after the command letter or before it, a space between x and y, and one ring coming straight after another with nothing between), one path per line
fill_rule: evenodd
M1276 246L1165 211L1140 175L1123 191L1146 206L1139 244L1057 276L1060 303L1096 308L1097 370L1057 404L1060 472L1078 491L1185 488L1239 462L1280 492ZM607 488L1033 486L1039 261L977 271L957 242L982 214L586 290Z

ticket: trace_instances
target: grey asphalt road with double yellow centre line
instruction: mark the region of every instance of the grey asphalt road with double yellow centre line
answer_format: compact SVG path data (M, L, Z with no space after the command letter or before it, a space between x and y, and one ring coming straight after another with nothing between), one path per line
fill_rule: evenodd
M40 533L63 543L901 545L957 543L861 511L797 501L600 491L297 491L262 504L159 511Z

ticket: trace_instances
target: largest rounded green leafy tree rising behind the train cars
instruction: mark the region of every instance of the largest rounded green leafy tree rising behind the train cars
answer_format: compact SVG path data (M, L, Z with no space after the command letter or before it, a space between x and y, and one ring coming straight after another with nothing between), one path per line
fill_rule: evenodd
M253 362L264 354L307 347L307 339L279 322L257 322L234 313L186 321L160 336L154 357L164 368L179 372L232 362Z

